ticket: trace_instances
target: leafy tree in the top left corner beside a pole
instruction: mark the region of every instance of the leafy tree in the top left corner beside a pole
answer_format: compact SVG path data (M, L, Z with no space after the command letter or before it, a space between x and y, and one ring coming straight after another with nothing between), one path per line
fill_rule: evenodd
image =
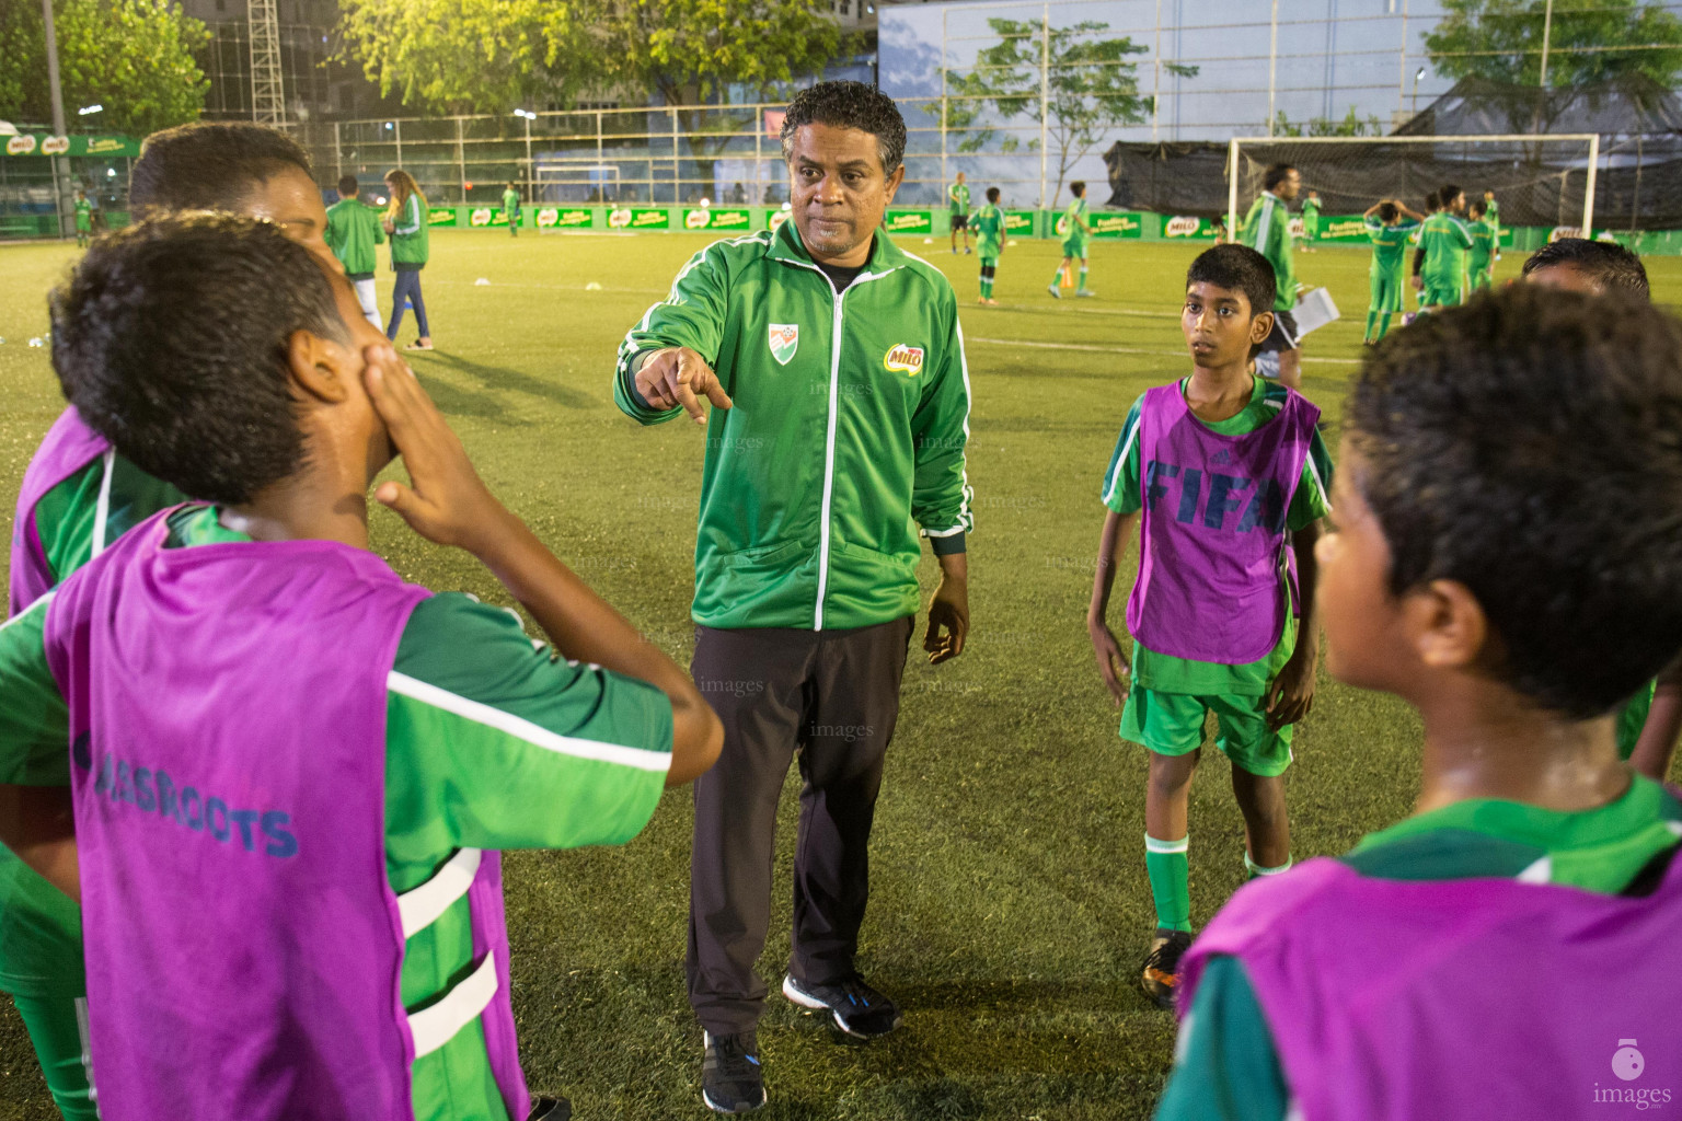
M103 104L103 131L143 136L198 119L210 79L193 50L210 42L170 0L54 0L66 108ZM52 119L40 3L0 5L0 119ZM74 118L72 118L74 121Z

